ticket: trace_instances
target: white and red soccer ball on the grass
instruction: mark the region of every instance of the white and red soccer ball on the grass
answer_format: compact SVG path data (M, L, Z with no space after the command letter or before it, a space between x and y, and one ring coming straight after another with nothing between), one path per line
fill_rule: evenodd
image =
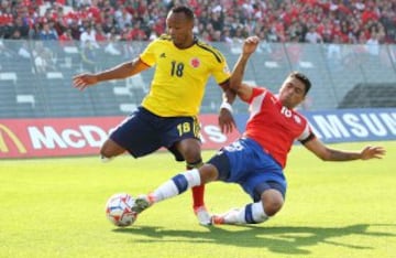
M132 212L134 198L128 193L113 194L106 204L106 217L116 226L132 225L138 214Z

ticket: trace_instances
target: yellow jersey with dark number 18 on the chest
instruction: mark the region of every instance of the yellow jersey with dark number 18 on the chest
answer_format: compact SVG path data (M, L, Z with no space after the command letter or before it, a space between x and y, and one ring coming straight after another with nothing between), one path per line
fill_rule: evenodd
M161 117L197 116L209 77L218 84L230 78L224 56L197 39L193 46L179 50L169 35L162 35L147 45L140 60L155 65L142 106Z

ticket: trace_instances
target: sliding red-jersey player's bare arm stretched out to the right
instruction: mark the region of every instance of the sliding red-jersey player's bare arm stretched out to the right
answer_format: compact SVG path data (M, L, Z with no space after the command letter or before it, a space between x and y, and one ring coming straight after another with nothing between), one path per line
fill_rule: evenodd
M327 147L316 137L311 137L308 141L302 141L302 144L323 161L381 159L386 152L382 147L371 146L365 147L361 151L337 150Z

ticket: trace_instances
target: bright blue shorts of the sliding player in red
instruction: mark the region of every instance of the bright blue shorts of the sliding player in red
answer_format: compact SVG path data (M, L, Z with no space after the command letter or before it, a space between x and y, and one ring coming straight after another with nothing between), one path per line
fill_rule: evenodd
M254 202L267 189L285 197L287 183L282 166L252 139L222 148L208 163L218 169L220 181L240 184Z

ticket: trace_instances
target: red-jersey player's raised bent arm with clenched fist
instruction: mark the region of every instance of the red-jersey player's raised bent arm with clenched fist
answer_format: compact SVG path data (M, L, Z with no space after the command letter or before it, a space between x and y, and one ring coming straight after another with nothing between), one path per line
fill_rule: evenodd
M250 85L242 83L242 79L248 61L256 50L258 42L260 40L257 36L250 36L243 42L242 53L234 65L230 78L230 87L235 90L238 96L244 101L248 101L251 98L253 88Z

